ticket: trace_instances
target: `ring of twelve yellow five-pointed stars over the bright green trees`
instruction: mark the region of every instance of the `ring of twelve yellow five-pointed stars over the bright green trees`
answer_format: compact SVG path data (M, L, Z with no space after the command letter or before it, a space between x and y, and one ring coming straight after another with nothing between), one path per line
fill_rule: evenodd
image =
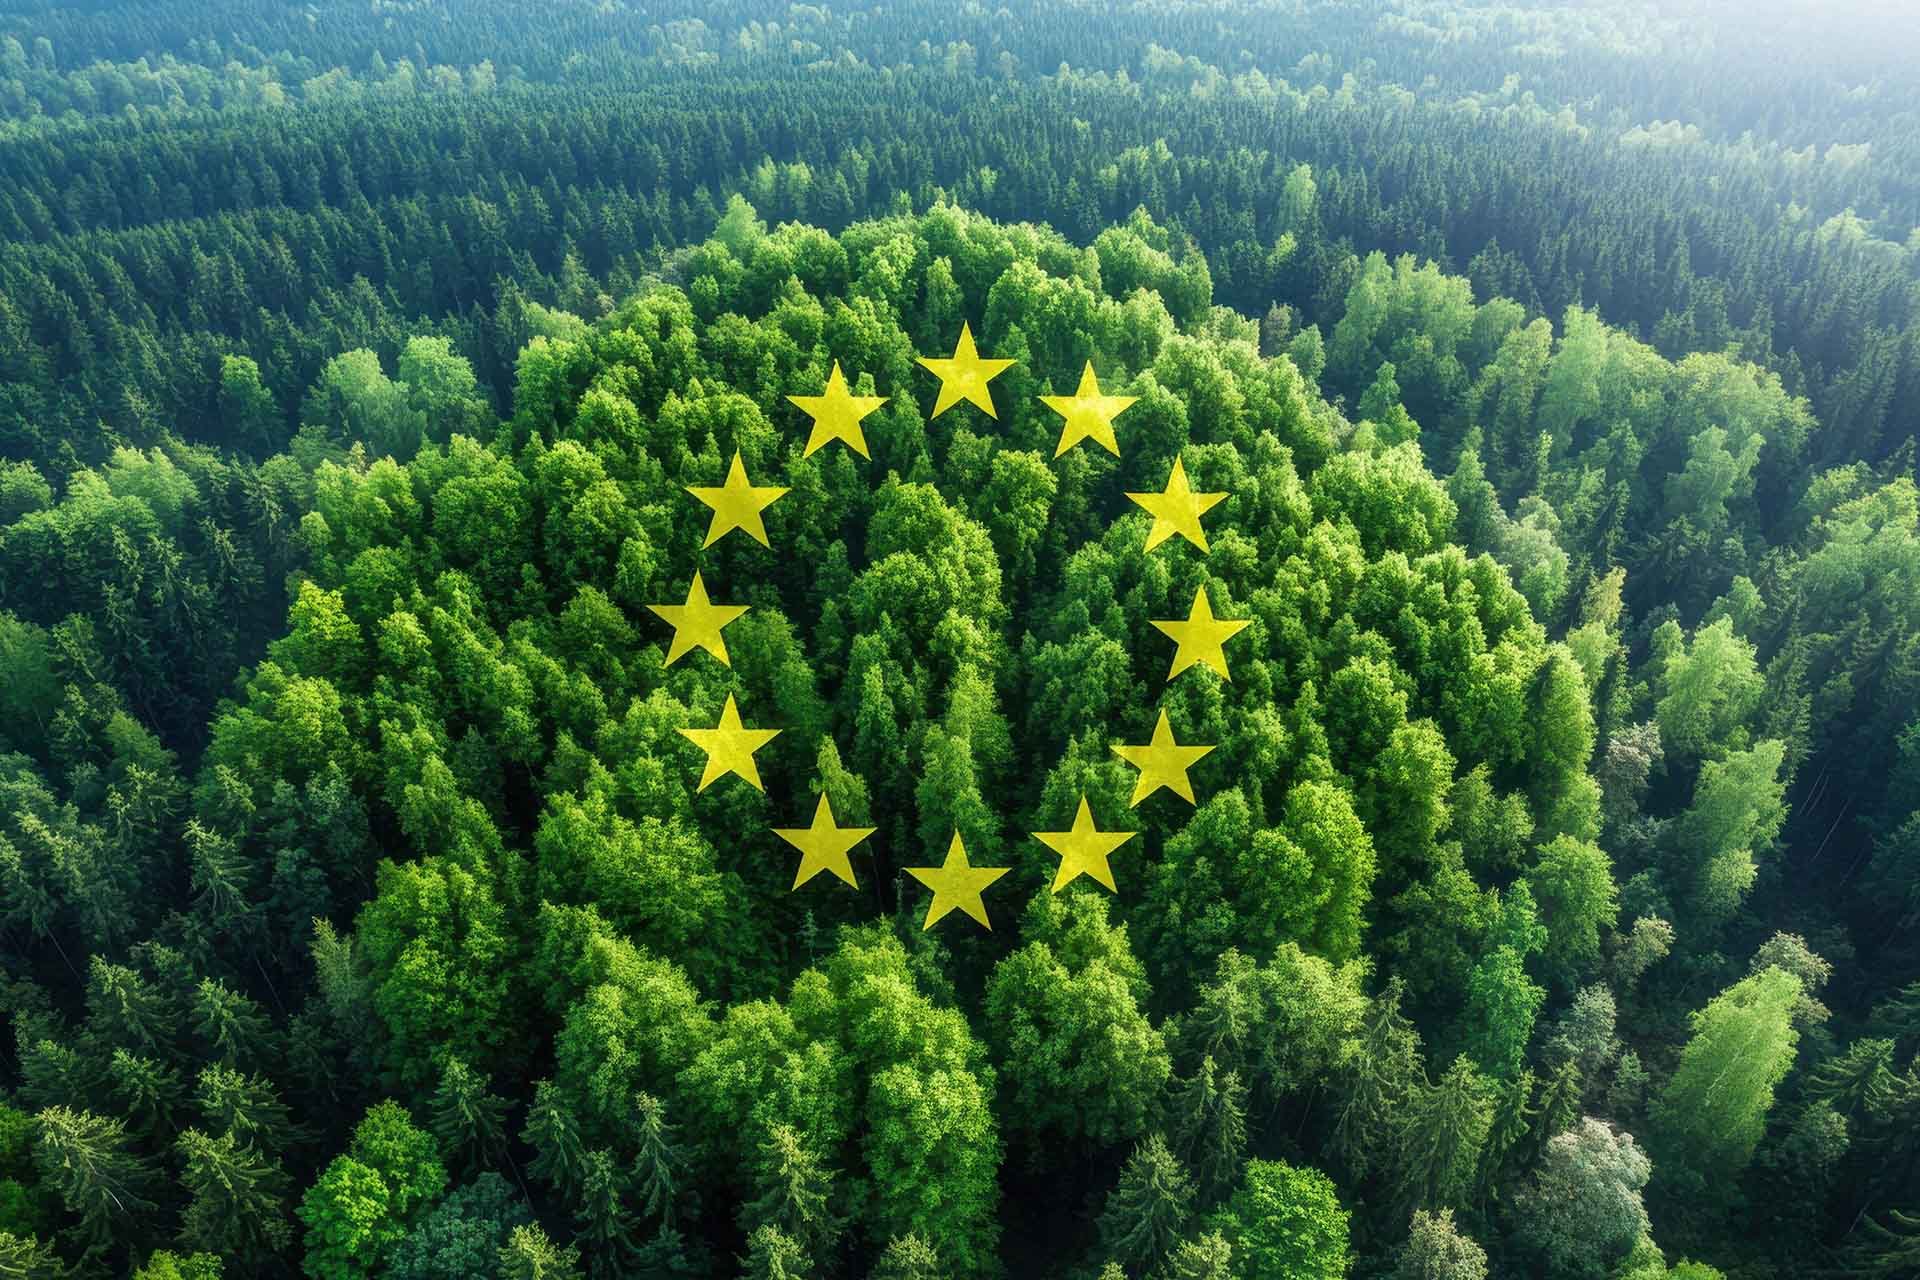
M922 355L918 357L918 363L941 382L929 418L937 418L960 403L973 405L989 418L998 418L991 384L996 376L1012 368L1016 361L981 355L973 342L972 324L960 324L960 338L954 342L954 353L950 357ZM858 384L870 386L870 378L862 376L854 386ZM839 441L847 445L849 451L872 461L866 432L862 432L860 422L885 405L887 399L887 395L854 393L852 386L847 382L847 374L841 370L839 361L833 361L828 372L826 388L818 395L787 395L787 401L799 407L812 420L812 432L806 438L806 447L801 457L812 457L826 445ZM1114 418L1133 405L1135 399L1137 397L1133 395L1110 395L1102 391L1092 361L1087 361L1073 395L1039 397L1043 405L1062 418L1060 441L1054 447L1054 457L1064 457L1068 449L1081 441L1091 441L1114 457L1119 457L1119 439L1114 434ZM687 486L687 493L712 510L712 518L707 528L707 541L701 543L701 549L705 551L707 547L712 547L733 530L747 533L747 537L770 549L772 543L768 543L766 537L762 512L785 497L787 491L789 489L780 486L753 484L747 476L747 466L735 449L724 484L716 487ZM1183 537L1192 543L1200 555L1206 555L1208 539L1202 516L1223 503L1227 495L1196 493L1187 478L1187 464L1175 457L1173 468L1167 474L1167 484L1162 491L1127 493L1127 499L1142 507L1154 518L1152 528L1146 533L1146 551L1152 551L1173 537ZM722 666L732 666L722 631L732 622L737 622L743 614L747 614L749 606L716 604L708 597L707 583L699 570L693 572L693 581L687 585L685 601L680 604L647 604L647 608L659 614L660 620L674 629L664 666L672 666L695 649L707 651ZM1206 666L1221 679L1233 679L1227 670L1225 645L1229 639L1246 629L1250 620L1217 618L1213 614L1212 597L1204 585L1194 591L1194 601L1187 610L1187 618L1156 618L1150 622L1175 643L1173 664L1167 670L1169 681L1190 666ZM682 727L680 733L707 754L707 766L701 770L701 781L695 791L707 791L728 775L737 775L753 789L762 793L766 791L760 783L760 770L755 766L753 756L756 750L772 743L774 737L780 735L780 729L747 727L732 693L728 693L726 706L720 710L718 725L712 729ZM1212 750L1213 745L1177 741L1173 727L1167 722L1167 712L1162 708L1154 733L1146 743L1137 747L1114 745L1114 754L1139 771L1133 785L1133 798L1127 802L1129 808L1137 808L1142 800L1162 789L1171 791L1187 804L1196 804L1194 787L1187 771ZM854 846L874 835L874 827L841 827L824 791L820 794L820 802L814 806L810 825L772 829L774 835L801 854L801 865L793 873L793 890L799 890L822 871L831 873L851 889L858 889L858 879L849 854ZM1035 841L1060 856L1060 865L1054 871L1052 892L1060 892L1083 875L1098 885L1104 885L1110 892L1117 892L1110 858L1139 833L1102 831L1094 821L1092 806L1083 793L1079 796L1079 810L1073 816L1073 825L1068 831L1033 831L1031 835ZM931 929L952 912L970 915L983 929L993 929L983 894L1010 869L1012 867L975 867L968 860L966 841L958 831L954 831L952 841L947 846L947 858L941 865L904 867L910 877L933 892L922 929Z

